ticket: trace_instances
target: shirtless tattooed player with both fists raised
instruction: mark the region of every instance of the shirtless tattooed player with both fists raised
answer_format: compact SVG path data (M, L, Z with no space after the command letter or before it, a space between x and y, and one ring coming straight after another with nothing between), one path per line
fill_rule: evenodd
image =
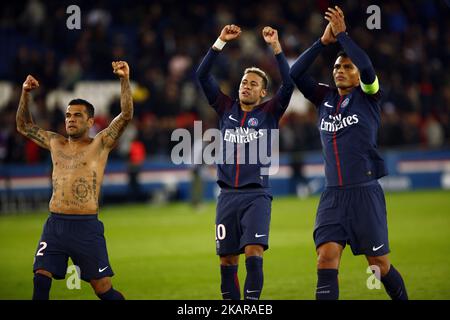
M51 154L53 192L50 215L36 250L34 300L48 300L52 278L64 279L70 257L79 267L80 277L90 282L102 300L123 300L114 290L114 275L109 263L103 223L98 220L98 197L111 149L133 118L130 69L125 61L112 62L120 78L121 113L94 138L94 107L83 99L74 99L66 109L67 137L46 131L34 124L29 110L31 91L39 82L31 75L23 84L17 110L17 130L48 149Z

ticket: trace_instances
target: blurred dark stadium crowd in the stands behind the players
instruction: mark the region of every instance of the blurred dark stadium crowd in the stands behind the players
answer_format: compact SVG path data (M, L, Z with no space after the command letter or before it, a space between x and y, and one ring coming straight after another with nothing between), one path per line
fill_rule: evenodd
M13 84L0 106L0 163L48 160L15 129L21 85L27 74L41 84L34 93L33 115L41 127L65 133L65 105L49 108L47 95L72 90L83 80L117 81L111 61L126 60L135 82L135 117L112 157L168 156L175 128L216 126L195 79L195 69L225 24L240 25L239 41L228 44L214 69L221 88L237 96L243 70L258 66L279 75L261 30L279 31L290 63L325 27L322 13L339 4L352 38L369 54L384 90L381 148L450 145L450 8L444 1L77 1L81 29L68 30L66 8L75 1L10 1L0 12L0 81ZM368 30L366 8L381 8L381 29ZM310 69L331 83L338 45L324 50ZM102 94L102 92L98 92ZM75 98L75 97L73 97ZM79 97L83 98L83 97ZM96 118L93 133L120 112L116 97ZM320 149L314 107L296 90L281 122L281 151Z

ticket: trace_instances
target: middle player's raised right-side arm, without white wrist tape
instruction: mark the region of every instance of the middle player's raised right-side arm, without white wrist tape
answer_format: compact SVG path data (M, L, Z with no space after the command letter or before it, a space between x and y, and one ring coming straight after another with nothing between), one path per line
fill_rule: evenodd
M281 44L278 40L278 31L271 27L264 27L262 35L264 41L272 47L275 58L277 59L278 69L280 70L281 75L281 87L278 89L277 96L280 105L283 110L285 110L291 100L292 92L294 91L294 83L289 76L289 64L281 49Z

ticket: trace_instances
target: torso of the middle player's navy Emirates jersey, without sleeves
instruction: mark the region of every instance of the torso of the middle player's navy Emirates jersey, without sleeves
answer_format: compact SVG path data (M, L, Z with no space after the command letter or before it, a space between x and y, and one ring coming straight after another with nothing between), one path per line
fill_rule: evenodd
M268 187L268 175L261 169L268 169L270 163L264 163L266 161L260 154L265 152L267 160L272 156L271 129L278 129L279 119L285 110L278 96L247 112L241 109L238 100L233 101L220 92L213 108L220 117L219 128L223 139L224 163L217 166L219 185L236 188L257 184ZM233 153L227 148L232 148Z

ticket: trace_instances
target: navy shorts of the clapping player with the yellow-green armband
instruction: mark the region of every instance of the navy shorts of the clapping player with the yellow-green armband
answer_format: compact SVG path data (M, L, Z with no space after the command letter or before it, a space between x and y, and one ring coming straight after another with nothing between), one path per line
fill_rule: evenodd
M354 255L389 253L386 201L377 180L328 187L322 193L314 227L316 248L326 242L348 243Z

